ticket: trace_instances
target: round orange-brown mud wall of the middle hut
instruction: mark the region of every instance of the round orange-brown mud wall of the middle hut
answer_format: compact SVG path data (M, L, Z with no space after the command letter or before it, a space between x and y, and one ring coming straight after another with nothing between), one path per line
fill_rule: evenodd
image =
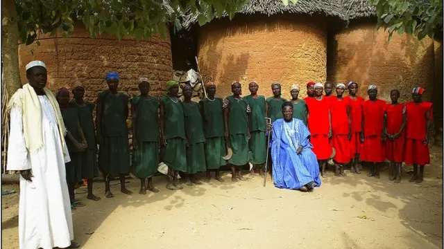
M213 20L198 34L198 61L221 97L231 94L234 80L241 82L244 95L255 80L261 95L271 96L271 83L281 82L284 98L290 98L291 84L299 84L305 97L307 82L326 80L325 21L296 15Z

